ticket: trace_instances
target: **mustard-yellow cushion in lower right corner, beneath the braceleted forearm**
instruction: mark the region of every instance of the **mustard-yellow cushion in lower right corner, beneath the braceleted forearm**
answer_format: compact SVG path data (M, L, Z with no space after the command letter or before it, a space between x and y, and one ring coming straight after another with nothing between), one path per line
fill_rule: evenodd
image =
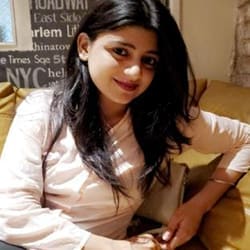
M250 246L250 173L205 216L199 235L208 249L248 250Z

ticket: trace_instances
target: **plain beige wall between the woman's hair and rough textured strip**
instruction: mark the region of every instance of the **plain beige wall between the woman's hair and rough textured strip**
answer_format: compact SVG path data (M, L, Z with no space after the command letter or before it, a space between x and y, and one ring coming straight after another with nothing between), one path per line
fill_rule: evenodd
M180 6L180 26L196 76L228 81L236 0L181 0Z

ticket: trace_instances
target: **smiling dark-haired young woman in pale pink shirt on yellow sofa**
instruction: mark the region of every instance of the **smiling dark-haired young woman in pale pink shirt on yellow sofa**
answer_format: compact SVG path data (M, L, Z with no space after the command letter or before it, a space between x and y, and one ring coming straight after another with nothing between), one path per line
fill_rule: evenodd
M67 77L19 106L0 168L0 239L28 249L157 249L126 229L166 156L222 152L163 233L174 249L250 163L248 125L199 110L185 44L157 0L102 0L73 39Z

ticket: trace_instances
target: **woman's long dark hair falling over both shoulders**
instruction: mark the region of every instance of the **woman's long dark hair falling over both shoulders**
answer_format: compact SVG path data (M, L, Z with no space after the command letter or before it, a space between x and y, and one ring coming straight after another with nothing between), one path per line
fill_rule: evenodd
M158 0L96 1L72 41L67 77L54 92L51 120L56 133L53 142L66 123L72 130L82 161L112 186L118 204L118 194L126 195L127 192L114 173L109 137L100 116L98 91L90 78L87 63L78 57L77 37L85 32L93 41L101 32L127 25L153 30L158 37L160 55L150 87L129 104L134 134L145 157L140 182L142 190L147 190L153 177L159 176L159 166L165 155L173 149L181 151L182 144L189 143L189 138L179 130L177 120L189 122L190 107L195 105L188 81L189 73L194 80L193 71L182 35L169 9Z

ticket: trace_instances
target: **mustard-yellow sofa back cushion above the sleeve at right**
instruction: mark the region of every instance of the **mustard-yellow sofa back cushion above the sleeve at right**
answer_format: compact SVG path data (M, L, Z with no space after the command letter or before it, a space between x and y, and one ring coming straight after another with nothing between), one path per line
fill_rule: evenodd
M250 123L250 88L211 81L201 96L202 109Z

